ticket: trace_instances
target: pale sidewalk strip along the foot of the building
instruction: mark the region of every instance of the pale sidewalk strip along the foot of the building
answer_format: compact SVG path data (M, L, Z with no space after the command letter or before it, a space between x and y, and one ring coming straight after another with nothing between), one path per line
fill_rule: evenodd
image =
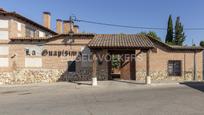
M193 82L193 81L192 81ZM185 82L182 82L185 83ZM43 87L43 86L66 86L68 89L76 88L147 88L156 86L180 86L178 81L152 81L150 85L146 85L145 81L134 80L108 80L98 81L97 86L92 86L92 81L75 81L75 82L56 82L56 83L34 83L24 85L0 85L0 88L15 87Z

